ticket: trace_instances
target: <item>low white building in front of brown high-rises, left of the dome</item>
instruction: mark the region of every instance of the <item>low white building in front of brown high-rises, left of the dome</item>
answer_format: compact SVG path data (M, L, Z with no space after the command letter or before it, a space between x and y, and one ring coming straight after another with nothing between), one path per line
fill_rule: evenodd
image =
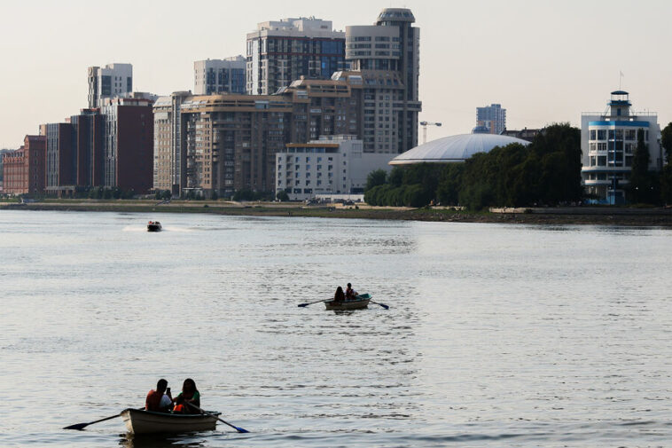
M356 136L321 136L309 143L292 143L276 153L276 193L291 200L317 195L362 194L371 171L391 167L394 154L364 153Z

